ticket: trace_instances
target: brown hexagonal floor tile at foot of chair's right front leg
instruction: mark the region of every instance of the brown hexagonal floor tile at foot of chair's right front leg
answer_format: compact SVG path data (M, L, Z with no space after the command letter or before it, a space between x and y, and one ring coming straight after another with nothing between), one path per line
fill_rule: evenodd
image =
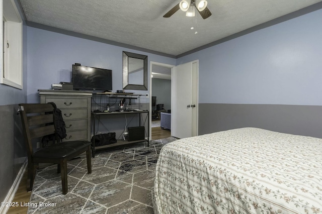
M116 172L116 169L100 167L93 169L91 174L86 174L83 180L88 181L90 183L99 184L109 180L113 180L115 178Z

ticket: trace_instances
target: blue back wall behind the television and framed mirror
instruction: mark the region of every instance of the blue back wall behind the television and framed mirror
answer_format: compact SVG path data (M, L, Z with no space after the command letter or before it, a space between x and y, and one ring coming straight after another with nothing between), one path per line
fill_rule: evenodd
M148 56L149 62L176 64L176 59L101 42L28 27L28 102L39 102L38 89L50 89L52 83L70 82L71 65L112 69L113 91L122 89L122 51ZM149 87L149 84L148 84ZM131 92L130 90L127 90ZM134 90L135 93L148 91Z

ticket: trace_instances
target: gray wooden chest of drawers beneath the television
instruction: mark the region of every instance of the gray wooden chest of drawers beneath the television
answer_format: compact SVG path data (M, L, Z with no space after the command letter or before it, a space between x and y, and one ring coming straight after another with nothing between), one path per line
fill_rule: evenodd
M61 110L66 125L63 141L91 141L92 91L38 90L40 102L54 102Z

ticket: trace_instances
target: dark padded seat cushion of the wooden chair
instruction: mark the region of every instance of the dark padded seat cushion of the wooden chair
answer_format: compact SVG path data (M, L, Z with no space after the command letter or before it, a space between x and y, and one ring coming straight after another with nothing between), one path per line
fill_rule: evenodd
M35 158L65 158L77 151L84 150L91 145L88 141L69 141L41 148L33 155Z

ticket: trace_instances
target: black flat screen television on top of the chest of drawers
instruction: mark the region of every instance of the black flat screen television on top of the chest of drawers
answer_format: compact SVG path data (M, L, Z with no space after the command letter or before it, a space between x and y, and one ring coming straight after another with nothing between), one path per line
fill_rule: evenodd
M73 89L112 90L112 70L72 65Z

